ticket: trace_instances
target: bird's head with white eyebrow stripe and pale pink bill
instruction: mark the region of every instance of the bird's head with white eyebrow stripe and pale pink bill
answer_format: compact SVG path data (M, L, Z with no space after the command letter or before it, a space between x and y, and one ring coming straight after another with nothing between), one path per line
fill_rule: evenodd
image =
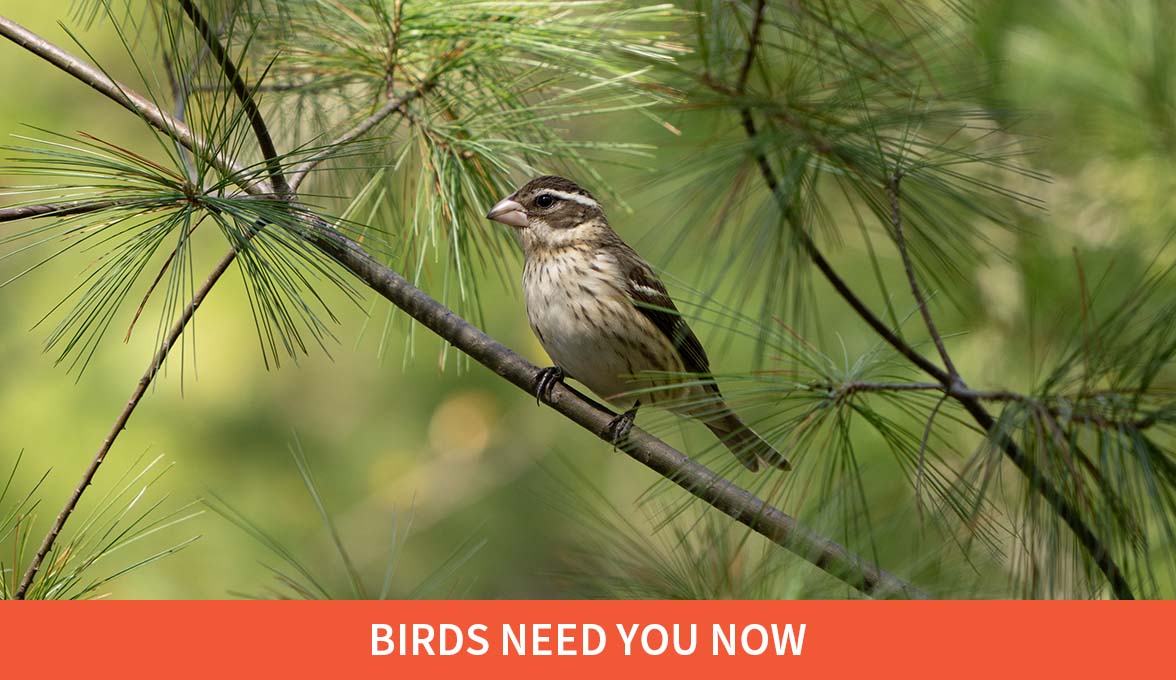
M596 199L576 182L555 175L530 180L486 216L514 227L528 253L590 241L608 229Z

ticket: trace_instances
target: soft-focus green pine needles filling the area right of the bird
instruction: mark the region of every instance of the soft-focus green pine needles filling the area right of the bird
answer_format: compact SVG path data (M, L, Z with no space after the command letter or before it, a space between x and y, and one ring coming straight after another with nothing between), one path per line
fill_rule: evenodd
M969 391L963 380L951 388L976 408L987 404L998 413L975 436L983 421L971 422L974 409L947 394L949 382L934 373L920 382L910 371L910 354L936 349L921 341L911 328L921 324L911 316L950 313L944 300L958 311L975 307L970 281L1009 258L1020 240L1048 228L1033 212L1043 206L1034 193L1048 173L1010 128L1014 112L993 95L998 86L971 41L973 13L958 5L870 0L696 7L699 49L667 74L686 101L716 121L721 136L693 148L690 162L666 180L697 206L680 220L673 248L727 241L723 259L702 262L715 278L699 293L703 316L721 319L726 332L757 338L760 355L770 362L757 374L717 379L740 409L759 414L761 434L800 461L781 491L764 492L797 507L803 494L789 489L820 485L822 501L842 499L849 545L873 554L877 527L870 518L894 499L877 495L876 471L868 476L862 469L862 449L888 449L916 507L929 508L949 534L965 536L958 544L963 555L976 541L1005 554L1017 593L1085 595L1097 588L1102 576L1094 575L1091 553L1104 548L1076 546L1073 518L1095 527L1141 593L1167 592L1172 574L1157 578L1150 547L1158 541L1165 551L1176 548L1176 459L1165 432L1171 320L1170 306L1156 299L1170 291L1167 247L1128 279L1138 284L1128 284L1122 295L1089 291L1080 261L1077 281L1067 282L1080 289L1065 304L1081 307L1081 321L1069 324L1063 344L1053 348L1060 355L1031 366L1029 391ZM1151 21L1156 7L1093 7L1094 18L1120 18L1115 24L1125 33L1162 25ZM1050 4L1004 9L1037 25L1057 13ZM1101 25L1087 19L1091 31ZM1058 40L1085 51L1075 26L1062 26ZM1143 98L1149 107L1151 95L1167 92L1157 84L1170 80L1162 48L1152 47L1144 46L1140 58L1151 84ZM1077 102L1076 109L1090 111ZM675 120L681 127L690 122L697 125ZM818 262L826 244L863 252L873 281L855 273L856 285L847 285L844 271ZM904 261L908 253L913 266ZM813 262L820 278L842 287L844 301L858 305L860 316L884 319L893 338L858 354L834 341L830 331L841 329L816 311L808 284ZM917 296L902 302L914 286L935 293L930 309L920 309ZM721 288L739 300L759 295L760 319L788 324L716 311L721 305L710 298ZM1096 316L1095 308L1107 313ZM867 321L875 329L881 324ZM969 329L967 316L954 321L953 331ZM810 339L799 342L800 332ZM928 335L936 335L930 322ZM801 342L809 356L799 355ZM953 352L960 344L948 336ZM844 359L823 356L827 346ZM988 374L997 385L1021 378ZM1023 476L1010 486L1002 468L1022 456L1021 448L1029 467L1018 464ZM970 456L963 453L969 449ZM1057 485L1068 509L1042 500L1053 491L1041 479Z

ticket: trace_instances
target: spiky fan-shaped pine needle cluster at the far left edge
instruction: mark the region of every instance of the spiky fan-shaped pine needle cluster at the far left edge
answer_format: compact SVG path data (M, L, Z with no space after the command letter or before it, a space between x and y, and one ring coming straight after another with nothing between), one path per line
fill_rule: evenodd
M326 282L350 288L302 238L305 211L278 199L225 193L233 184L252 181L247 178L219 176L194 184L185 178L179 159L169 168L89 135L45 134L46 139L28 139L29 146L8 147L16 154L12 156L16 165L8 172L83 182L69 187L71 195L78 196L72 209L79 214L15 231L0 244L16 246L8 255L60 244L6 284L74 248L94 256L92 272L42 319L61 313L46 340L46 348L58 353L58 362L68 359L71 368L85 368L133 288L145 284L126 334L162 282L155 341L161 345L172 319L198 289L193 236L206 222L205 231L218 231L238 252L267 360L276 362L280 353L305 353L303 332L320 345L330 338L323 318L333 315L316 287ZM36 199L26 202L40 202L46 191L39 189ZM62 187L48 191L60 196ZM159 272L147 282L145 274L152 265Z

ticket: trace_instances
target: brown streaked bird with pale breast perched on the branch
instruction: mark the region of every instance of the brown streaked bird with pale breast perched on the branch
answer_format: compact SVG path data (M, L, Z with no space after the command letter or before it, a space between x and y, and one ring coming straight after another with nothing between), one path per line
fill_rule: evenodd
M647 402L700 420L753 472L761 462L790 468L727 406L666 286L609 227L590 192L543 175L486 216L509 226L522 246L527 318L555 364L539 373L537 399L549 401L554 386L573 378L623 409L607 428L614 446Z

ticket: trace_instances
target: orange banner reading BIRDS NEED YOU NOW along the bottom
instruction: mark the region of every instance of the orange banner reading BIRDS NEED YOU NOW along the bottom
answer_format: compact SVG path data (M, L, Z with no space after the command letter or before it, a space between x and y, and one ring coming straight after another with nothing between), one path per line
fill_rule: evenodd
M1171 673L1174 620L1172 602L4 602L0 640L8 678L1090 678Z

